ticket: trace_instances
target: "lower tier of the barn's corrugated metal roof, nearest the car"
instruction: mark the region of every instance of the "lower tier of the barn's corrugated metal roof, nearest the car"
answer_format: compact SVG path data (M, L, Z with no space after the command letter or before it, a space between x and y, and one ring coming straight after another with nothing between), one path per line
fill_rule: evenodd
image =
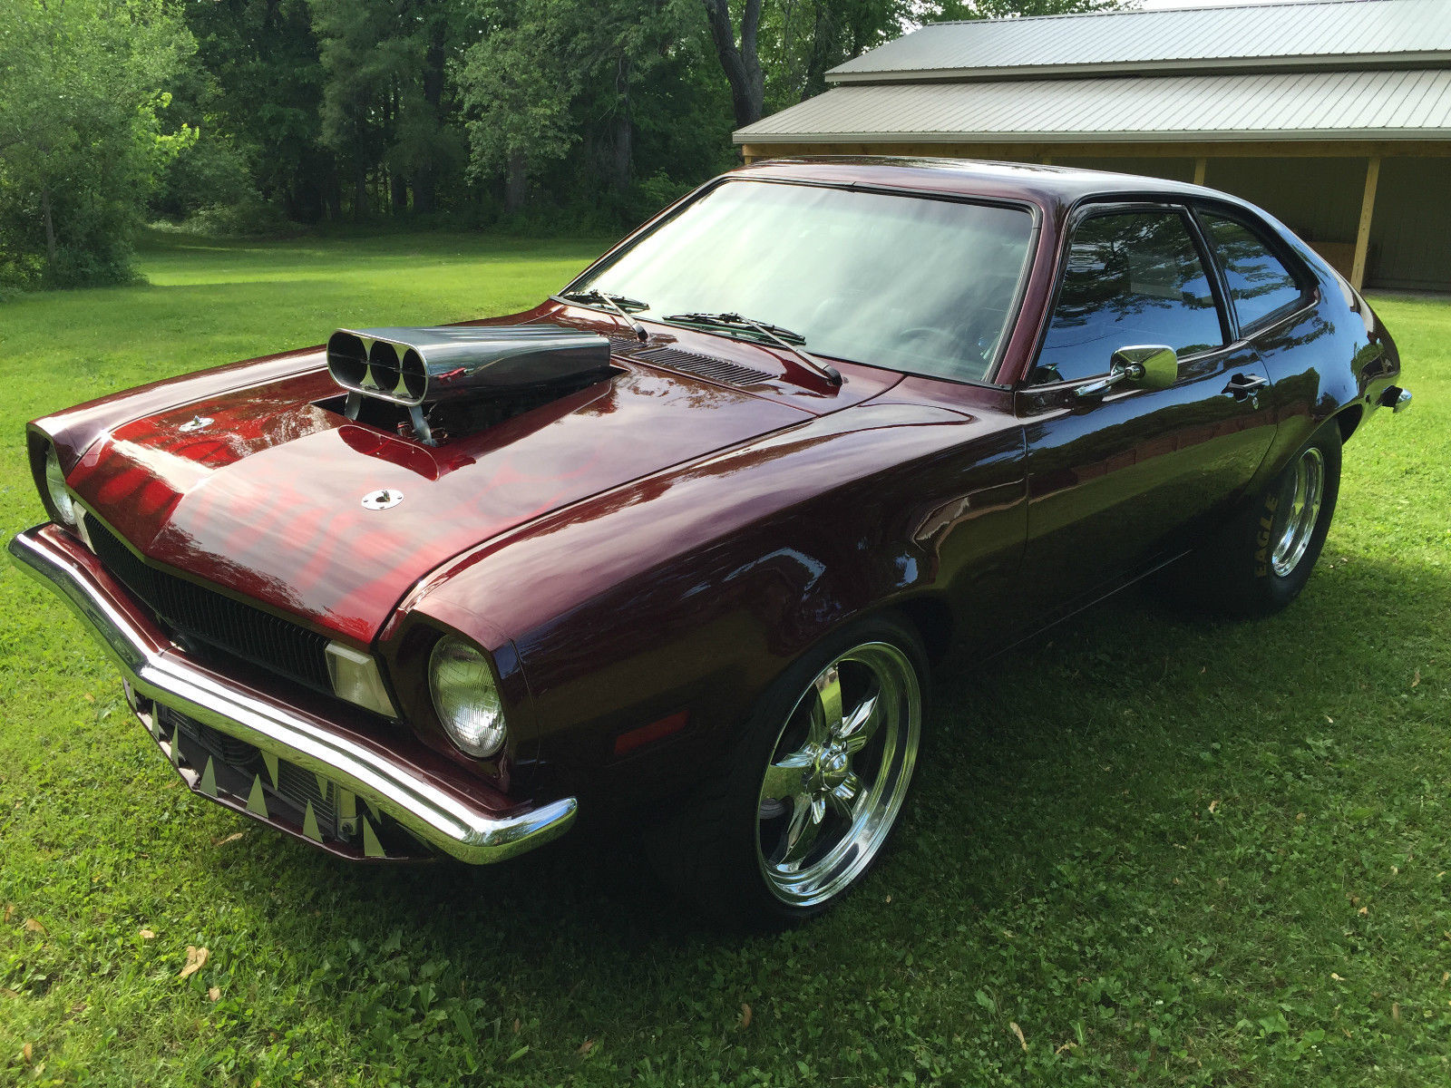
M737 144L1451 139L1451 70L834 87Z

